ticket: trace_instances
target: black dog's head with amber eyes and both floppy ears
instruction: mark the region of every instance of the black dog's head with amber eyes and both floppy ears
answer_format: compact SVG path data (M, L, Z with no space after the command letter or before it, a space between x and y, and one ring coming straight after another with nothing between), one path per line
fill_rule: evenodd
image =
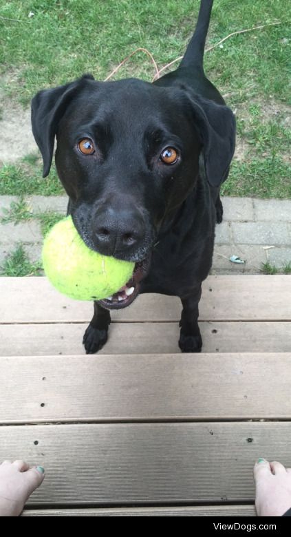
M56 136L56 169L78 233L89 248L136 262L133 294L123 289L123 299L103 306L125 307L137 295L160 229L195 187L200 154L208 181L224 180L234 128L227 107L178 85L137 79L102 83L84 76L32 99L43 176Z

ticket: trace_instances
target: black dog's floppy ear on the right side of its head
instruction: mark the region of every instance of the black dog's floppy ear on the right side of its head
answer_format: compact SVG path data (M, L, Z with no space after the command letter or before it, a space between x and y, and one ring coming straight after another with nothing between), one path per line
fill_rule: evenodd
M206 178L218 187L228 175L235 152L235 116L230 108L189 95L195 128L203 146Z

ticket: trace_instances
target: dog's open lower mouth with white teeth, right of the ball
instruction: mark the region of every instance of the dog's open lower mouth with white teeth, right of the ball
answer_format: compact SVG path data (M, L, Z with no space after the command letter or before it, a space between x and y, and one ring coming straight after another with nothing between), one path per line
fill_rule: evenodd
M98 304L109 310L126 308L138 296L140 291L140 282L149 272L150 256L136 263L133 269L131 279L123 285L117 293L111 297L98 300Z

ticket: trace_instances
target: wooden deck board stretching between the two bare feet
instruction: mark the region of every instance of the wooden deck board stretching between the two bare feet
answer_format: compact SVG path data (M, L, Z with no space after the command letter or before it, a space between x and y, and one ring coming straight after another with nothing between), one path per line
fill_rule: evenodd
M291 467L290 443L288 422L14 425L0 428L0 459L45 467L38 507L252 503L253 462Z

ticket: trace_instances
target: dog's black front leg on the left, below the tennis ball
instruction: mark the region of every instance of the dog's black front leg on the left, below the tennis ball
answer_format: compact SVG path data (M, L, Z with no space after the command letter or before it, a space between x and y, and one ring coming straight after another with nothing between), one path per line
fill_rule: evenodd
M83 337L87 355L93 355L105 345L110 322L109 310L94 302L94 315Z

